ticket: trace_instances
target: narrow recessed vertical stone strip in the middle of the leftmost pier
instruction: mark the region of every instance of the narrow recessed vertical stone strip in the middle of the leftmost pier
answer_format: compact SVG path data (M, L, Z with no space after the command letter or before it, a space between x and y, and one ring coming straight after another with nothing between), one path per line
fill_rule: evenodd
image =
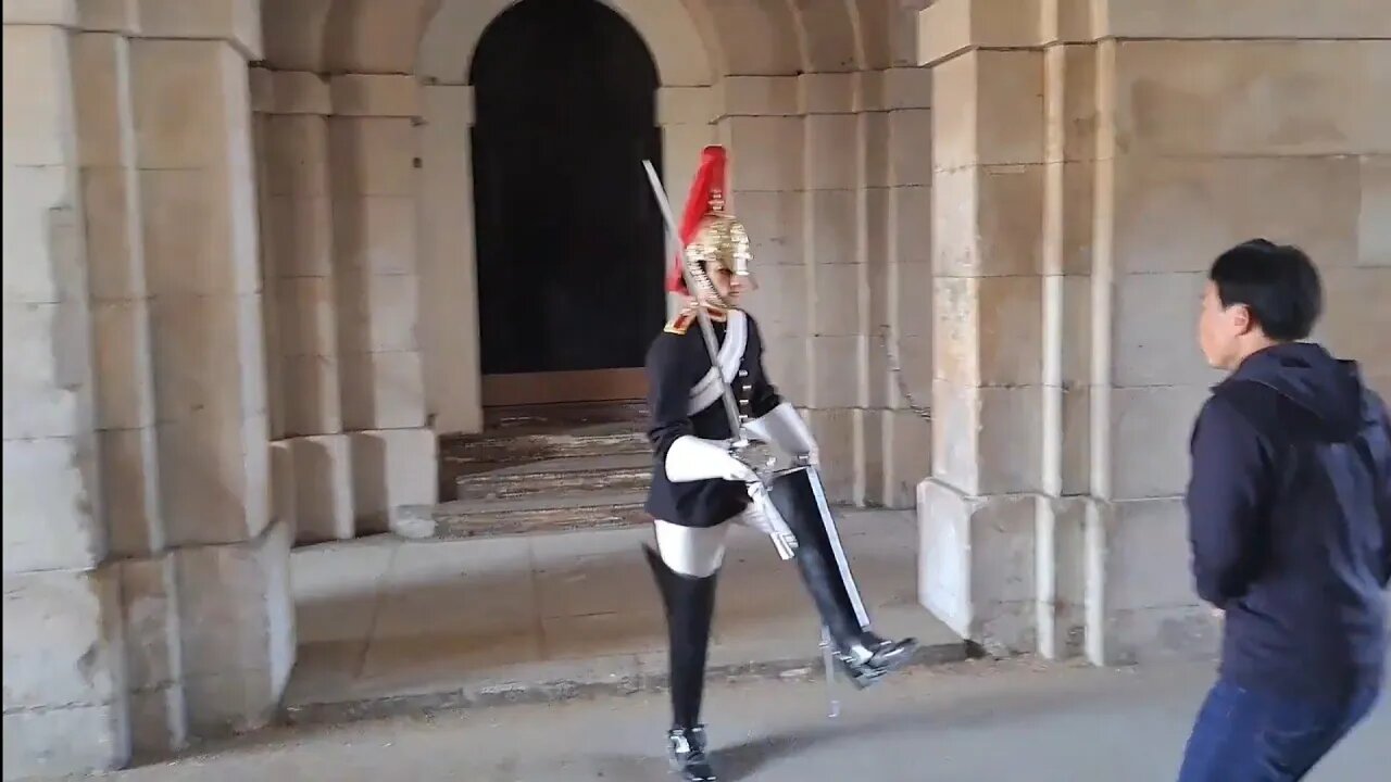
M106 11L106 13L103 13ZM103 511L118 558L134 754L184 746L188 712L174 557L160 500L152 299L136 160L131 7L85 4L72 38L96 349Z

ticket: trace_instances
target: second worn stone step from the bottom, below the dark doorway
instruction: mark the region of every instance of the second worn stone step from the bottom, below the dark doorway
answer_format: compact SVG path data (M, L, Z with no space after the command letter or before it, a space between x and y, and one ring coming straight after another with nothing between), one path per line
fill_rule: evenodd
M584 493L644 493L651 483L648 452L605 456L565 456L459 476L459 500L515 500L547 494L555 498Z

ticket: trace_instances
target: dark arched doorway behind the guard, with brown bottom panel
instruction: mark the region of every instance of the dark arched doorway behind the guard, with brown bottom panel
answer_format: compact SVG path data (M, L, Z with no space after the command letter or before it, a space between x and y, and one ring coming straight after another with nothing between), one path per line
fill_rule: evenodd
M647 45L597 0L522 0L469 81L483 404L641 397L666 310Z

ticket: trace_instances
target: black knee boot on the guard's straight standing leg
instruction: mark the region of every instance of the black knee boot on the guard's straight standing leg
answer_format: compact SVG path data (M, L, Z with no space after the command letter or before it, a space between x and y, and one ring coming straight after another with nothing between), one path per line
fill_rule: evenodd
M666 751L672 771L683 782L715 782L715 772L705 757L705 726L700 722L701 696L705 690L705 653L715 614L715 579L702 579L672 570L650 547L647 564L666 608L666 633L670 648L672 729L666 733Z

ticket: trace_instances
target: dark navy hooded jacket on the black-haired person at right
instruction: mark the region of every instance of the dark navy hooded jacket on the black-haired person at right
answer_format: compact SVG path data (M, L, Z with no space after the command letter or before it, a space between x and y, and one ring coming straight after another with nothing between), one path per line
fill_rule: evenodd
M1313 700L1378 687L1391 580L1391 423L1353 362L1291 342L1213 388L1187 505L1221 675Z

